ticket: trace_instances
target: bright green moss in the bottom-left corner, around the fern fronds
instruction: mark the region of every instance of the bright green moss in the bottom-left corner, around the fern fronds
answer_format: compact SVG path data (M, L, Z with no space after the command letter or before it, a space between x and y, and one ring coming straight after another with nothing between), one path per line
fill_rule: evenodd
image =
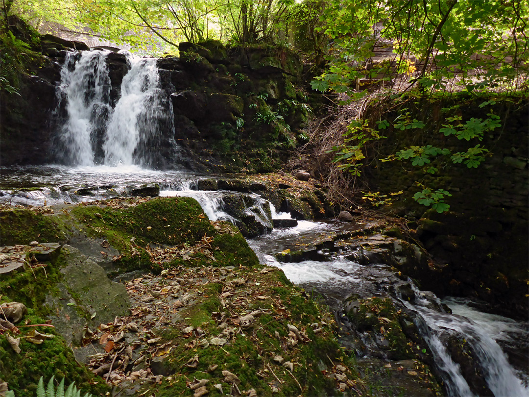
M29 324L43 324L45 320L34 315L33 310L28 310L24 317ZM26 341L25 337L34 327L21 327L20 354L8 344L5 335L0 335L0 356L2 365L0 374L2 380L8 383L10 390L15 395L35 395L40 377L49 380L55 376L57 381L63 377L65 383L75 383L83 393L89 392L94 395L104 395L110 388L105 382L97 378L87 367L77 363L71 349L65 341L57 335L50 327L37 327L41 333L54 335L52 339L45 339L40 345Z

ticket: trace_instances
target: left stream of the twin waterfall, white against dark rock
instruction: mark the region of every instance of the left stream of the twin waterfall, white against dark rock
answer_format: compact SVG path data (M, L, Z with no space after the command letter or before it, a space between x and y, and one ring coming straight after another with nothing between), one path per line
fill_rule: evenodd
M84 51L76 62L69 52L61 69L58 96L66 100L67 121L60 131L61 156L75 166L94 164L93 133L105 122L110 106L106 52Z

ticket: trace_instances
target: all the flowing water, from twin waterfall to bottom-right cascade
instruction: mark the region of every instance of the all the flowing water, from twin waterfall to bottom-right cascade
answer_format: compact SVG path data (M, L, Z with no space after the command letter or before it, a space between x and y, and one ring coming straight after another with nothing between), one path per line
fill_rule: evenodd
M145 184L158 184L161 196L193 197L209 219L236 224L238 219L226 205L227 198L235 197L246 204L244 214L253 216L263 225L263 230L271 231L249 240L261 263L277 266L295 284L324 294L328 302L335 303L337 311L353 292L360 296L386 293L386 287L395 281L393 270L385 264L361 266L351 259L346 247L323 248L310 260L298 263L281 263L275 257L281 251L310 246L324 235L354 229L350 224L298 221L292 228L273 229L274 221L279 223L291 216L288 212L278 212L258 194L197 191L197 181L203 175L145 169L152 168L154 163L149 150L159 150L165 145L160 142L160 126L172 120L172 110L167 109L166 98L158 87L156 62L127 56L129 73L123 79L121 96L113 105L106 55L103 51L72 53L62 68L57 95L64 114L57 152L60 153L58 161L67 166L0 167L0 203L86 202L126 195L131 188ZM406 301L403 304L417 314L417 326L435 355L450 395L473 395L462 368L454 363L446 347L446 338L451 335L459 335L469 342L487 387L494 395L529 395L527 351L519 352L521 346L527 349L527 323L480 312L472 309L468 301L457 299L445 300L453 313L443 313L429 308L432 294L428 300L415 288L415 295L413 304ZM516 369L508 358L512 362L518 360Z

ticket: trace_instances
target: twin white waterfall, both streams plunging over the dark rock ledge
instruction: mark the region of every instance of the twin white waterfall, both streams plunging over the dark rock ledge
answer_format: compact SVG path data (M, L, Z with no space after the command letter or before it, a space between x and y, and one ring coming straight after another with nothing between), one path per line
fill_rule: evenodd
M126 53L129 71L121 96L113 103L106 64L110 52L69 53L57 90L65 114L58 134L57 157L70 166L151 167L152 146L159 142L159 121L169 120L159 87L156 59Z

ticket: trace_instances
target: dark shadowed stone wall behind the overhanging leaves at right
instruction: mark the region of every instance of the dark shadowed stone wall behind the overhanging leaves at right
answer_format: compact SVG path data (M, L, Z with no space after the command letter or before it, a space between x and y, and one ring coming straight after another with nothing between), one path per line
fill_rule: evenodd
M432 161L439 168L435 175L425 174L411 160L376 161L367 175L372 191L404 193L394 210L405 216L416 238L433 256L436 272L422 280L423 288L441 295L457 294L479 297L506 305L514 314L527 315L527 241L529 219L528 101L512 97L496 100L495 104L479 107L491 98L452 96L449 99L409 100L398 104L382 118L391 124L398 116L410 112L412 119L423 121L419 131L388 129L382 140L378 158L415 146L433 145L451 152L465 151L476 144L490 152L477 168L464 164ZM487 119L494 111L500 116L501 127L485 132L481 141L458 140L439 132L447 116L461 115ZM371 109L371 116L379 109ZM378 113L377 113L378 112ZM413 194L425 186L443 188L450 211L426 211L417 204Z

